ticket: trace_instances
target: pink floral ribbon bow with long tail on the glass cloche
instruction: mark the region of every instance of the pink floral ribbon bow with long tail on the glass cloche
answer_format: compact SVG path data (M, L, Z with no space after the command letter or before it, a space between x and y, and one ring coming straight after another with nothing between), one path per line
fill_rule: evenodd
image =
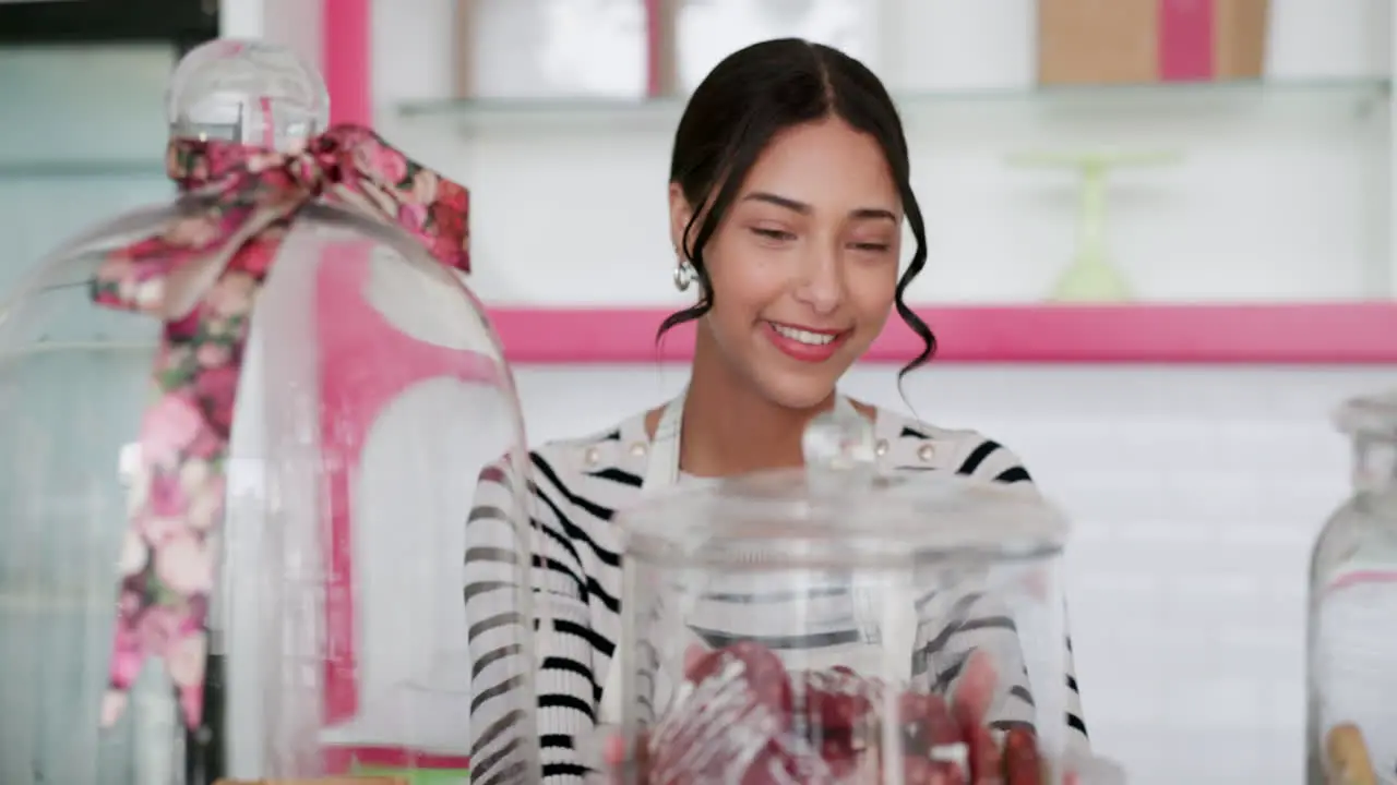
M467 190L367 129L335 127L293 152L175 140L166 166L194 198L163 232L109 253L92 279L98 305L165 321L120 556L103 726L120 718L148 656L165 661L189 726L203 719L214 534L243 349L253 302L300 210L319 198L355 207L469 270Z

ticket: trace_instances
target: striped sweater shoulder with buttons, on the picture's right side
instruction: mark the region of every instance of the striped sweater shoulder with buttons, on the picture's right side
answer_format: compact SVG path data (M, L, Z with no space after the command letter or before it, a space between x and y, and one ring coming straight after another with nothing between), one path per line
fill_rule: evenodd
M950 471L1032 487L1032 475L1010 448L978 430L942 427L891 409L877 409L879 450L894 469Z

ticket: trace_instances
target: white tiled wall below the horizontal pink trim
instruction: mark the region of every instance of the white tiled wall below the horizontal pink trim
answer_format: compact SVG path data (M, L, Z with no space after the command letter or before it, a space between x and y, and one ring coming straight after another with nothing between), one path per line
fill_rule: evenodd
M859 367L845 391L904 406L894 372ZM683 384L668 366L517 374L534 441ZM1132 785L1298 785L1306 559L1348 485L1329 415L1391 386L1391 369L933 366L907 398L1020 453L1071 514L1087 722Z

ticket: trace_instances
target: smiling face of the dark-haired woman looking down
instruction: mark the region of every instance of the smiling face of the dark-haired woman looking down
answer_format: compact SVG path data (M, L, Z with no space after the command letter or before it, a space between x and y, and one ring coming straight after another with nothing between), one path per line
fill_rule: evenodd
M672 187L680 249L689 215ZM887 321L901 225L873 137L833 117L777 134L704 247L714 307L698 328L770 401L821 404Z

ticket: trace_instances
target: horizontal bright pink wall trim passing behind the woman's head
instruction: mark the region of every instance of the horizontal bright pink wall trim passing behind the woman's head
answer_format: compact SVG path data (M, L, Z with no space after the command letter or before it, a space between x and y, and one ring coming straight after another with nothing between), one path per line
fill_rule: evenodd
M944 306L918 313L937 360L964 363L1397 363L1397 305ZM693 328L655 346L659 309L492 309L513 363L652 363L693 356ZM904 363L919 339L895 317L865 356Z

